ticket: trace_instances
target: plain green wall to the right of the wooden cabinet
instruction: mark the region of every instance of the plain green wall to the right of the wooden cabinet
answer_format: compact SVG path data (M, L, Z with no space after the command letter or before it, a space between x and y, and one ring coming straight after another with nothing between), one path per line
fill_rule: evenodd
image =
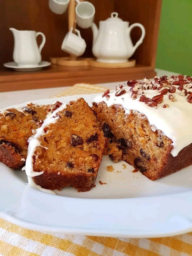
M156 68L192 76L192 0L163 0Z

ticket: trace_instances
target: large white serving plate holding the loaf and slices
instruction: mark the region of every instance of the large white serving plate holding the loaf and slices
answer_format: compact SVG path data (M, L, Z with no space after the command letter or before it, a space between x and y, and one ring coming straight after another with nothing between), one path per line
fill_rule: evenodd
M91 104L96 94L82 96ZM107 171L111 164L114 172ZM160 237L192 231L192 166L151 181L122 164L104 156L95 188L80 193L63 188L56 191L58 196L30 188L24 171L0 163L0 217L25 228L65 234ZM100 185L100 180L107 184Z

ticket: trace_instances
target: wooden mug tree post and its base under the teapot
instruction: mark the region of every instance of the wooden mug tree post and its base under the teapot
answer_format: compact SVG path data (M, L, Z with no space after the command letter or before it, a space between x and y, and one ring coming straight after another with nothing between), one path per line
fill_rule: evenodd
M83 2L84 0L80 0ZM72 32L75 34L76 20L75 20L75 7L76 0L70 0L68 5L68 29L70 31L73 27ZM68 57L51 57L50 61L52 64L57 64L59 66L69 66L69 67L80 67L80 66L91 66L96 68L130 68L134 67L136 60L130 59L123 63L104 63L98 62L95 58L77 58L74 55L69 55Z

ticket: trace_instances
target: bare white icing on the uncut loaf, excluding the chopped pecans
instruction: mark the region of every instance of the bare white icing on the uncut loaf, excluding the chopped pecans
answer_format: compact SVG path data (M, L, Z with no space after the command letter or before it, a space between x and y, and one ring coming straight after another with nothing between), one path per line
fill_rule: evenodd
M187 85L187 84L186 84ZM184 89L192 92L192 88ZM154 125L156 129L161 130L164 134L173 141L172 156L177 156L181 149L192 143L192 104L187 101L187 96L181 96L178 86L175 93L167 93L164 95L163 102L158 104L157 108L151 108L144 102L139 101L141 95L137 95L136 100L132 100L130 88L123 87L126 93L116 97L115 90L111 91L106 97L102 98L102 94L95 97L92 101L100 103L104 101L108 107L113 105L122 105L125 113L129 114L130 110L138 111L147 116L149 124ZM156 96L158 90L143 90L144 95L150 99ZM169 94L175 95L176 102L169 100ZM169 108L163 108L164 104L168 104Z

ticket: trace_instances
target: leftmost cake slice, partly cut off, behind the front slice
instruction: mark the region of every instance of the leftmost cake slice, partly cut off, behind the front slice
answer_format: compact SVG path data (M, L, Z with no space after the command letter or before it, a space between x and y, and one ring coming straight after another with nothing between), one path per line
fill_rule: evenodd
M29 102L27 106L0 110L0 162L12 169L25 164L28 138L40 127L47 106Z

